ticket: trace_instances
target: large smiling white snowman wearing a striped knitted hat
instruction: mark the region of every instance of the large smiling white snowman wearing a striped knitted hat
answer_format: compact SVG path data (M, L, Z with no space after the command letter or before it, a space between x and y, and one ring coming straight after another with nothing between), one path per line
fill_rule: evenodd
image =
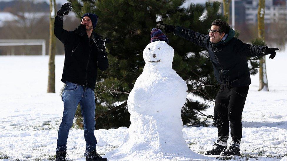
M191 151L183 138L181 108L187 85L172 69L174 51L160 29L151 31L143 50L146 62L128 97L131 114L123 145L108 152L109 160L206 159Z

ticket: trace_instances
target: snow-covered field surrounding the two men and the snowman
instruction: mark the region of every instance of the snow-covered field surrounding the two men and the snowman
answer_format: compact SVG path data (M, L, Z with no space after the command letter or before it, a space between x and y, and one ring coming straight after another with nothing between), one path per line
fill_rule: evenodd
M212 160L287 160L286 53L278 52L273 60L267 59L270 92L257 91L258 75L251 77L242 118L243 155L211 156ZM64 56L55 59L55 94L46 93L48 60L48 56L0 56L0 160L54 159L63 112L59 93L64 85L60 82ZM213 106L205 113L212 114ZM127 132L126 127L96 130L99 153L117 148ZM217 129L183 127L183 135L191 150L203 153L212 148ZM69 160L85 160L84 131L72 128L67 147Z

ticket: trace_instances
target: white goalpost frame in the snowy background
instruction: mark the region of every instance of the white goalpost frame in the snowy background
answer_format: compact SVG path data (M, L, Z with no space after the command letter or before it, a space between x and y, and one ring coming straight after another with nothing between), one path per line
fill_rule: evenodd
M42 45L42 56L46 55L46 40L44 39L0 39L0 46Z

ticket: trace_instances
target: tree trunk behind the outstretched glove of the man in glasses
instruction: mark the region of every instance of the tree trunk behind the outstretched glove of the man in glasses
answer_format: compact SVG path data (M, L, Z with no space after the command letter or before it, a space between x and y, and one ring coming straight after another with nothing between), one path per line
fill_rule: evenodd
M264 33L264 15L265 15L265 0L259 0L258 2L258 37L265 39ZM259 89L258 91L269 91L268 89L268 81L267 81L267 74L266 74L266 62L265 56L259 62Z

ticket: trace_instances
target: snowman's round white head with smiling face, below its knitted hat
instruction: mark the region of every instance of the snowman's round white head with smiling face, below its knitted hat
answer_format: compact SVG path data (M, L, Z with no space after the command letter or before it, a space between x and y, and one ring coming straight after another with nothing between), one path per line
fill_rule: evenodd
M143 50L143 60L146 65L171 67L174 51L165 41L149 43Z

